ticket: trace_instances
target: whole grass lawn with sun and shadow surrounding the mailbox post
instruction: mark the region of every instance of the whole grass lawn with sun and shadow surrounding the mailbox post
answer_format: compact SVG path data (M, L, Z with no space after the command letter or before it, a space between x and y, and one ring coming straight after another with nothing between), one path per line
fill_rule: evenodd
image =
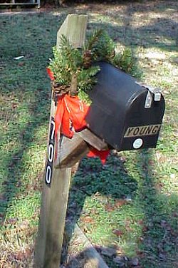
M166 111L156 149L113 151L104 166L83 158L68 218L78 221L110 268L176 268L177 1L0 14L0 267L32 267L51 104L46 66L58 28L75 12L88 14L88 31L102 27L118 49L133 48L141 81L162 88ZM77 258L80 250L71 243L70 255Z

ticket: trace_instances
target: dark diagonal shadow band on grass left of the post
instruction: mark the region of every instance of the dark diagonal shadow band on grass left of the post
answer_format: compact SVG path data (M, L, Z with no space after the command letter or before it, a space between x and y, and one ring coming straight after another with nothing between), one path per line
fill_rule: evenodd
M45 95L45 94L43 94ZM46 94L48 97L48 94ZM38 108L36 107L38 105ZM33 142L34 134L36 130L46 123L46 118L43 116L36 117L36 110L43 110L44 103L41 102L41 97L36 98L36 103L31 105L31 109L34 111L33 115L30 117L30 123L25 123L23 128L19 125L19 133L16 133L16 139L20 140L20 145L15 149L15 153L9 153L6 156L6 179L2 182L2 192L4 202L1 203L1 214L4 214L6 217L6 210L11 205L11 201L14 198L18 199L18 195L21 195L22 192L27 191L27 187L30 184L31 178L23 178L23 173L28 168L23 162L23 155L26 153L26 150L31 146ZM36 182L37 183L37 182ZM39 185L33 185L34 189L39 187Z

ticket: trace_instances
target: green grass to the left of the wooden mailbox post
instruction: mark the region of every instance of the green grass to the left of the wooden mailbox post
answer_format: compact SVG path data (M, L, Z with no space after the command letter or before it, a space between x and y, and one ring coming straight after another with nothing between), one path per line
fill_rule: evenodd
M23 249L31 248L38 226L51 102L46 65L56 43L58 22L52 14L17 14L1 16L0 20L0 213L5 232L1 236L0 259L11 259L13 252L22 250L21 244ZM16 56L24 58L15 60ZM19 244L14 226L18 228L21 222L28 222L33 236L25 230L27 235L21 236ZM8 230L11 236L7 239ZM8 250L10 246L13 250ZM16 267L18 261L17 257L2 265Z

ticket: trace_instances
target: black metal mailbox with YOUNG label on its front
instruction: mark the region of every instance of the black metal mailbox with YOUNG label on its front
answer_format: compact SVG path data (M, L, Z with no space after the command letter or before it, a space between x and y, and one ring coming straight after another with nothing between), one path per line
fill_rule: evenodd
M164 115L162 94L110 63L99 65L88 128L117 150L155 148Z

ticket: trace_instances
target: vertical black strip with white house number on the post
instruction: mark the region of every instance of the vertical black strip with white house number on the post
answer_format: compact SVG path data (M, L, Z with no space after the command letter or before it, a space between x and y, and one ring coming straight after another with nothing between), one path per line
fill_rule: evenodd
M47 155L47 164L46 164L46 176L45 176L47 185L51 185L51 178L53 175L53 158L54 158L54 141L55 141L54 133L55 133L55 122L54 122L54 118L51 118L48 155Z

